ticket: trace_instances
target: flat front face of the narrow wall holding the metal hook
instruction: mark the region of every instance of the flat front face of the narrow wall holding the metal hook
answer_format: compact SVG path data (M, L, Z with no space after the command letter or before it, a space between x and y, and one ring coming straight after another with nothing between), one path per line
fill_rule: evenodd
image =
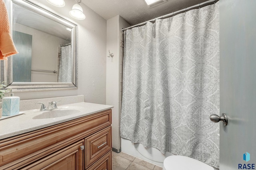
M121 139L119 133L119 47L118 47L118 18L115 16L107 20L107 49L106 56L114 54L113 59L107 58L106 62L106 104L112 105L112 147L120 149Z

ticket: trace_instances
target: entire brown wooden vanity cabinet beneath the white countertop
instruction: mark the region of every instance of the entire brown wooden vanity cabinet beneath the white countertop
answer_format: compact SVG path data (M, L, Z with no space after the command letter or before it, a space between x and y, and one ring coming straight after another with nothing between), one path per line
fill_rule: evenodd
M111 170L111 149L109 109L0 140L0 170L92 170L106 155Z

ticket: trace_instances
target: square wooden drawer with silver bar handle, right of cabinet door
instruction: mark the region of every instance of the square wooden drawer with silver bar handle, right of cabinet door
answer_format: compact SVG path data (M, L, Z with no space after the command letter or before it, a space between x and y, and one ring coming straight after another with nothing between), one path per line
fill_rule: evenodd
M111 126L85 138L86 168L112 149Z

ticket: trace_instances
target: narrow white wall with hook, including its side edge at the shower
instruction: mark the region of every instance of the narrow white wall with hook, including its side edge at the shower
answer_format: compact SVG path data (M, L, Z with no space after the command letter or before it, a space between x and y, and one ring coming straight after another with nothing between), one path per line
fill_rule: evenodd
M112 105L112 147L120 151L120 104L122 98L122 28L130 26L122 17L115 16L107 20L106 56L114 54L113 59L107 58L106 63L106 104Z

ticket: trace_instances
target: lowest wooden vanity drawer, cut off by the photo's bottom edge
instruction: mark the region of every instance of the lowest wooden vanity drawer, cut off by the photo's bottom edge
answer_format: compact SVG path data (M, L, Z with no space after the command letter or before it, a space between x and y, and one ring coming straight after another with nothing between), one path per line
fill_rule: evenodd
M100 158L95 164L93 164L87 170L111 170L112 161L111 161L111 151L108 152L105 156Z

